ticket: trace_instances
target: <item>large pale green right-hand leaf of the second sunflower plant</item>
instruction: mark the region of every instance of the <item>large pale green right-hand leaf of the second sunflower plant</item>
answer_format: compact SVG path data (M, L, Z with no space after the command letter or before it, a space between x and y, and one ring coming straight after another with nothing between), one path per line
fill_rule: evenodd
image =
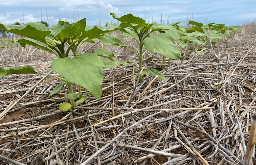
M148 51L156 52L170 59L179 59L180 50L178 45L172 43L172 38L166 33L145 38L144 46Z

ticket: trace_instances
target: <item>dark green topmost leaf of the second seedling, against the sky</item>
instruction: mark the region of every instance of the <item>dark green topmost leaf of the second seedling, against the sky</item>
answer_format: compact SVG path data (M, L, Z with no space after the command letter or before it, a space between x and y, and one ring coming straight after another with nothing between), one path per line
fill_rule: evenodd
M117 19L120 22L129 22L129 23L131 23L131 26L133 26L136 30L139 27L146 26L146 21L144 19L142 19L140 17L135 17L132 14L123 15L120 18L118 18L118 16L115 15L115 13L110 13L110 15L112 15L113 18Z

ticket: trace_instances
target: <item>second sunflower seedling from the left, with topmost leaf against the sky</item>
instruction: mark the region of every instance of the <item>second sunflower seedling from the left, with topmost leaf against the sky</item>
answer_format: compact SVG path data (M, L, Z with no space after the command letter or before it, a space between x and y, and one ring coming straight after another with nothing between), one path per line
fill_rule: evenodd
M172 43L172 37L170 35L166 33L154 35L153 33L159 30L175 29L175 25L180 22L169 25L161 25L157 23L146 23L144 19L135 17L131 14L123 15L120 18L118 18L114 13L110 13L110 15L112 15L114 19L117 19L121 23L129 23L129 27L120 29L120 31L123 32L123 35L136 40L138 51L137 49L133 49L128 47L127 45L124 45L122 41L120 41L118 38L101 36L99 37L99 40L102 43L108 45L117 45L120 47L125 47L132 51L134 54L136 54L139 59L139 62L137 64L139 72L141 72L142 70L143 56L147 51L160 53L170 59L180 58L180 51L178 45ZM118 27L117 24L110 25L109 23L107 23L106 26L108 26L108 28ZM145 51L143 51L143 47L145 47ZM146 61L151 59L152 58L147 59ZM158 75L162 80L166 81L164 75L162 73L157 72L157 70L155 69L147 69L146 72L150 72L154 76ZM143 74L144 73L145 72L143 72Z

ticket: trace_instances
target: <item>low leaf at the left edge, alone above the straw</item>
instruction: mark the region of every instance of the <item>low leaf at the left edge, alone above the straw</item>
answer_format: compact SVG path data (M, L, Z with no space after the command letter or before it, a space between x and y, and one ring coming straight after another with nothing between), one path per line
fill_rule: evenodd
M7 76L9 74L35 74L35 70L32 66L26 65L26 66L13 66L13 67L7 67L2 68L0 67L0 77Z

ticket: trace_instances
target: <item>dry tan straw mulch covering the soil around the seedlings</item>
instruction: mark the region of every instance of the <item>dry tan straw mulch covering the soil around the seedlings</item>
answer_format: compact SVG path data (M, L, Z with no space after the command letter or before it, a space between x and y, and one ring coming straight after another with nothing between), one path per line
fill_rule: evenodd
M147 62L166 82L152 75L134 80L138 71L132 64L105 69L102 98L87 95L72 113L58 110L66 87L48 98L59 80L1 78L0 113L9 111L0 119L0 165L244 164L256 108L255 29L248 24L213 50L188 52L185 60L166 59L163 70L161 58ZM97 47L85 45L83 51ZM111 50L119 60L137 59L123 48ZM52 58L15 46L2 50L0 65L31 65L48 73Z

